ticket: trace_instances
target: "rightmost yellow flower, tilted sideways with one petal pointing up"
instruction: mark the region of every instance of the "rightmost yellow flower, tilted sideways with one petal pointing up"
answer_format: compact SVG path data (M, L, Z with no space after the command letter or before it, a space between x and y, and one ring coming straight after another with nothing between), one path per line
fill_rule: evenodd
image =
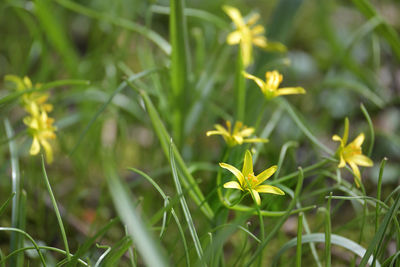
M337 136L336 134L332 136L334 141L340 142L340 146L337 150L337 154L340 157L340 162L338 167L343 168L348 163L353 170L355 177L354 181L356 182L357 187L360 187L361 175L358 166L371 167L373 166L373 162L370 158L362 154L361 145L364 142L365 136L364 133L360 133L353 142L347 143L347 139L349 137L349 119L346 118L344 121L344 133L343 137Z

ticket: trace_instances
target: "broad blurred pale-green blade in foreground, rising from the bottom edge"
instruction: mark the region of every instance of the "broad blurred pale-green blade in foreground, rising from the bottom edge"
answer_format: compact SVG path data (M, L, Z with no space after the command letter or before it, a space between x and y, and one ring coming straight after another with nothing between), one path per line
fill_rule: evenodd
M132 197L122 185L115 169L111 166L109 160L104 160L104 164L114 207L122 222L126 225L143 261L148 266L167 266L159 244L154 241L140 215L136 212L132 204Z

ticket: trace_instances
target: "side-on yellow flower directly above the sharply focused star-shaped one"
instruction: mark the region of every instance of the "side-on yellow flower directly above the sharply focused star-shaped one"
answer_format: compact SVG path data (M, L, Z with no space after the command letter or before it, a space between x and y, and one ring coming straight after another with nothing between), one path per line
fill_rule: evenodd
M235 125L233 127L233 132L232 132L232 126L231 126L230 121L226 121L226 129L220 124L216 124L216 125L214 125L214 127L216 130L208 131L206 133L207 136L222 135L222 138L224 138L224 140L228 146L241 145L243 143L266 143L266 142L268 142L268 139L263 139L263 138L247 138L254 133L255 129L251 128L251 127L246 127L240 121L237 121L235 123Z

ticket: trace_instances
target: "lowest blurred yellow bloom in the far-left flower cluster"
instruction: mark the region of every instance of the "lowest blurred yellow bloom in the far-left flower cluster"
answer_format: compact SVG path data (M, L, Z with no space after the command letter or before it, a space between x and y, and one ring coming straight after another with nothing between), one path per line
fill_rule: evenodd
M56 127L53 126L53 122L54 119L48 117L45 111L41 111L38 115L31 115L24 118L24 123L29 127L29 133L33 137L29 153L37 155L40 152L40 146L42 146L48 163L53 161L53 149L48 139L56 138L54 133Z

